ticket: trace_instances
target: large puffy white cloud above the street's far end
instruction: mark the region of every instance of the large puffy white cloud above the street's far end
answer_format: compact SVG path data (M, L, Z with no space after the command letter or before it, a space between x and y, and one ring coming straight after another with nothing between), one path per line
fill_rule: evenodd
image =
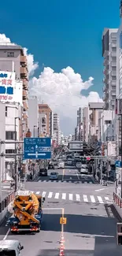
M60 114L61 124L68 119L70 132L70 127L76 126L76 111L80 106L87 106L88 102L102 102L97 92L91 91L88 97L81 95L82 90L93 85L93 80L89 77L83 82L82 77L71 67L62 69L59 73L47 67L39 78L33 77L29 81L29 87L31 95L38 95L40 101L47 103L53 111Z

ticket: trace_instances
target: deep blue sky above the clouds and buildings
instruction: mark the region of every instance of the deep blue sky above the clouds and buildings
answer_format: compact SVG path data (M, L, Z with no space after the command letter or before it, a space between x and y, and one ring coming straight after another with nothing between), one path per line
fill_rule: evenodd
M69 65L83 80L94 77L92 91L102 96L102 31L119 27L119 8L120 0L6 0L0 33L34 54L36 76L43 63L55 72Z

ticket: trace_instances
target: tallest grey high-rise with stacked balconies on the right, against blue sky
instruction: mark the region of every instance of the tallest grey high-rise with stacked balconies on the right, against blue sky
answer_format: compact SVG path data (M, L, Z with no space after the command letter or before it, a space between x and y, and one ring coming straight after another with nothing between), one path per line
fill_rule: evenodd
M102 34L102 57L104 58L103 101L104 109L113 110L116 99L116 37L118 29L105 28Z

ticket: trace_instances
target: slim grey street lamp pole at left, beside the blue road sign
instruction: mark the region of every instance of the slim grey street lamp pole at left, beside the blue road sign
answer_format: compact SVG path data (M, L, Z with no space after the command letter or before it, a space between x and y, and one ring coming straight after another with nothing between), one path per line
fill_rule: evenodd
M17 191L18 188L18 170L17 170L17 147L18 145L16 145L16 141L17 141L17 119L20 120L20 117L14 117L14 133L15 133L15 191Z

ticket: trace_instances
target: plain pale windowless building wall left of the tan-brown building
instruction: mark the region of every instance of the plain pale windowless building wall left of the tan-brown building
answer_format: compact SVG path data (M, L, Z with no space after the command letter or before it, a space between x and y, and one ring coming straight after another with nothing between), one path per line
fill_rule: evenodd
M39 132L39 100L36 96L28 99L28 127L31 131L31 137L38 137Z

